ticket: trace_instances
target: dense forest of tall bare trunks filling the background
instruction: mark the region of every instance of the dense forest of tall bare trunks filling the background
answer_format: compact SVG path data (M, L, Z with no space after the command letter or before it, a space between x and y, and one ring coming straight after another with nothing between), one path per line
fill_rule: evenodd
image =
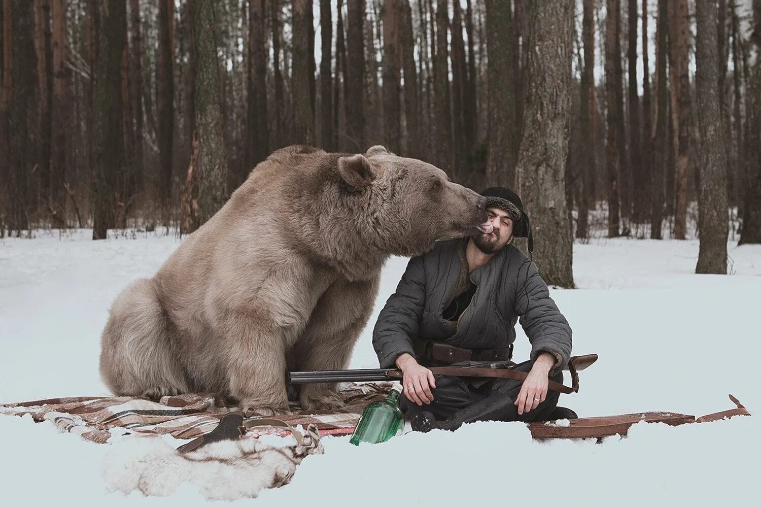
M759 0L3 0L0 20L0 235L193 232L306 143L520 190L559 286L573 238L699 236L708 273L728 235L761 242Z

